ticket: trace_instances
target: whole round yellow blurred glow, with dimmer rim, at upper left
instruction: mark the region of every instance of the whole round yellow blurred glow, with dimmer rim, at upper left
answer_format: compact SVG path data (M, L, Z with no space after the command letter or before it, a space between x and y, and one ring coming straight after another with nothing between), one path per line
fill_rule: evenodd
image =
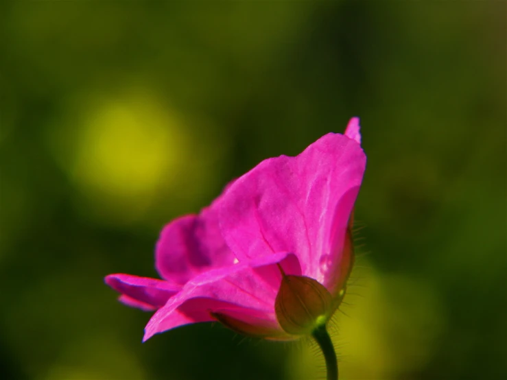
M86 217L115 225L140 221L180 178L196 178L189 165L202 157L191 128L149 91L86 93L68 109L71 116L48 137Z

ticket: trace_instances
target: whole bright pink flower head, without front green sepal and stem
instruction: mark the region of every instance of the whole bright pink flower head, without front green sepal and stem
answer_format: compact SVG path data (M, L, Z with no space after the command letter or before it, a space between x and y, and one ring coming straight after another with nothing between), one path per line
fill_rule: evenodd
M305 289L323 285L331 302L318 307L329 318L353 265L351 214L366 166L360 143L353 118L344 135L326 134L295 157L268 158L199 215L167 224L155 254L163 280L106 276L121 302L156 310L143 340L213 320L250 336L294 339L275 310L282 275L300 276Z

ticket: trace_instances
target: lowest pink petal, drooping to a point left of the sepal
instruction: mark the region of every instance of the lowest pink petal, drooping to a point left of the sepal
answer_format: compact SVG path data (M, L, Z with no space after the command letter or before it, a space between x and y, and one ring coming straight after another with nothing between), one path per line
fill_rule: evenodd
M294 268L294 257L291 256L288 252L271 254L209 270L192 278L181 292L154 313L145 328L143 340L182 324L213 320L210 313L227 313L227 310L235 311L231 315L233 318L241 315L248 319L250 315L259 320L259 316L263 316L270 324L276 324L274 299L281 273L272 264L281 263L284 271L291 270Z

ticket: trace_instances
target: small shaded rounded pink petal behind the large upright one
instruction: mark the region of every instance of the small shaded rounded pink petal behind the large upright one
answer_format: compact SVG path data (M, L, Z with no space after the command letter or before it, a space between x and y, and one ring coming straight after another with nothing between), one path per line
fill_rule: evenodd
M155 252L155 266L162 278L184 285L206 270L234 263L235 256L218 225L221 199L199 215L179 217L163 228Z

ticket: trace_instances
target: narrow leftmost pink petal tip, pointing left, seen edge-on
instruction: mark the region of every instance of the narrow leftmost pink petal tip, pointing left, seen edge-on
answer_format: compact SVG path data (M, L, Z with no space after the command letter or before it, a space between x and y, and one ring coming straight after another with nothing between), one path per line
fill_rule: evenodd
M167 281L130 274L110 274L106 276L105 281L107 285L123 294L120 297L121 302L143 310L163 307L165 302L181 289L180 285Z

